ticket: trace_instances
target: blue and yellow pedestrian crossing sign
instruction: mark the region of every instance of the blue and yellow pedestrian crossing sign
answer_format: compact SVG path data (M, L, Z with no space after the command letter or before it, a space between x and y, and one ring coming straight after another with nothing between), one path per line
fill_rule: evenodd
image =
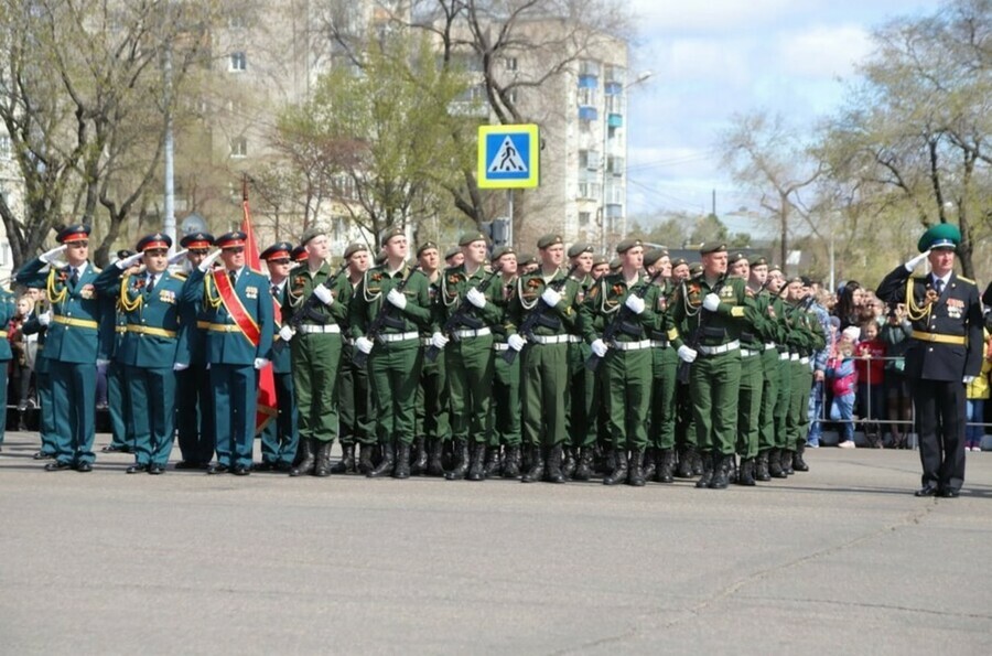
M520 126L479 126L479 189L532 189L540 180L539 129Z

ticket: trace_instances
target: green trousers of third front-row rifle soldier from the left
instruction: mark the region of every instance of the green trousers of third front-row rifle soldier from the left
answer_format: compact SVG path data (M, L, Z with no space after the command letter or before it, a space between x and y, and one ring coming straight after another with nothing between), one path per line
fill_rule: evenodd
M452 340L448 347L451 434L473 444L488 443L493 398L493 335Z

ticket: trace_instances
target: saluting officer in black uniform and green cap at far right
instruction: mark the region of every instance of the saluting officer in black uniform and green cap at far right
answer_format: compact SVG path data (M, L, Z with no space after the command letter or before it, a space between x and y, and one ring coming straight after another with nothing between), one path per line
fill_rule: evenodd
M916 496L957 497L964 483L964 386L981 374L982 308L973 280L955 273L957 226L939 224L920 237L920 255L882 280L876 294L906 303L913 332L906 378L916 408L923 486ZM912 276L923 261L928 276Z

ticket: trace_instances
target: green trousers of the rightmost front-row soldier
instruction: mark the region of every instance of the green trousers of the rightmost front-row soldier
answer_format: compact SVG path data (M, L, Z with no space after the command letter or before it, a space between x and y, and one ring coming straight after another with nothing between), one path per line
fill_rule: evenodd
M716 355L702 352L692 363L696 441L703 452L732 455L737 439L737 387L741 383L740 348Z

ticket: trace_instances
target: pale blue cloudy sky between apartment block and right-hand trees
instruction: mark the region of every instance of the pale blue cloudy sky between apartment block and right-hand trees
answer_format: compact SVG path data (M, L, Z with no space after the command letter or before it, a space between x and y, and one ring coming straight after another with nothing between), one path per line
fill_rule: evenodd
M903 15L930 14L940 0L632 0L637 36L627 89L627 215L658 211L727 218L756 209L721 170L715 144L734 115L780 112L801 130L841 106L871 32ZM737 225L735 225L735 223ZM752 230L753 232L753 230ZM757 236L757 235L755 235Z

